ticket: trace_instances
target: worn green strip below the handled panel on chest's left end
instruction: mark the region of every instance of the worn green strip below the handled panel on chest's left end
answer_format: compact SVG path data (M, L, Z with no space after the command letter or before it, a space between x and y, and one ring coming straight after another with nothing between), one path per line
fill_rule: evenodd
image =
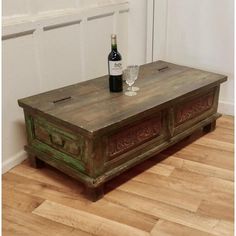
M82 162L78 161L75 158L72 158L71 156L69 156L65 153L55 150L54 148L50 147L49 145L47 145L45 143L34 140L34 142L32 142L32 146L42 152L47 153L53 159L58 159L60 161L63 161L65 163L65 165L68 165L77 171L85 172L85 167L83 166Z

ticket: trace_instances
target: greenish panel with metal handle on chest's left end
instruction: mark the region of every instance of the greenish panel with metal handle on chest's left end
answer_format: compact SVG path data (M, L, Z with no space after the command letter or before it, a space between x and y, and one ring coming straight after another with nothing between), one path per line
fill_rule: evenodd
M40 119L34 120L35 138L64 153L81 158L84 142L72 134Z

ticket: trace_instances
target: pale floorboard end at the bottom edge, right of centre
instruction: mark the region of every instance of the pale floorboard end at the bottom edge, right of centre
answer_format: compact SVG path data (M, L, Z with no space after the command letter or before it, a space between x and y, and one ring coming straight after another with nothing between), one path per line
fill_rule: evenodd
M159 220L150 234L151 236L213 236L213 234L166 220Z

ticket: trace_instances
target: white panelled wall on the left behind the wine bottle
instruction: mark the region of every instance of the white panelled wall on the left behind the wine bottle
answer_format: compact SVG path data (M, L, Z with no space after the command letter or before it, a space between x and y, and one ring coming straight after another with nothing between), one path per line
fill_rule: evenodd
M17 99L107 74L111 33L145 62L147 1L3 0L3 172L26 157Z

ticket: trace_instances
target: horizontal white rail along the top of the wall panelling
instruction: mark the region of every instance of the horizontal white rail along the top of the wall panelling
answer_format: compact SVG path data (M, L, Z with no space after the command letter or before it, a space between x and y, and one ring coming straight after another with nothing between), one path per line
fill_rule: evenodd
M113 15L115 12L122 14L128 11L129 3L122 2L82 9L54 10L36 15L3 17L2 38L9 39L13 38L14 35L21 36L22 32L35 31L39 28L53 29L57 28L57 25L58 27L69 26L74 22L78 23L79 21L93 20L96 18Z

